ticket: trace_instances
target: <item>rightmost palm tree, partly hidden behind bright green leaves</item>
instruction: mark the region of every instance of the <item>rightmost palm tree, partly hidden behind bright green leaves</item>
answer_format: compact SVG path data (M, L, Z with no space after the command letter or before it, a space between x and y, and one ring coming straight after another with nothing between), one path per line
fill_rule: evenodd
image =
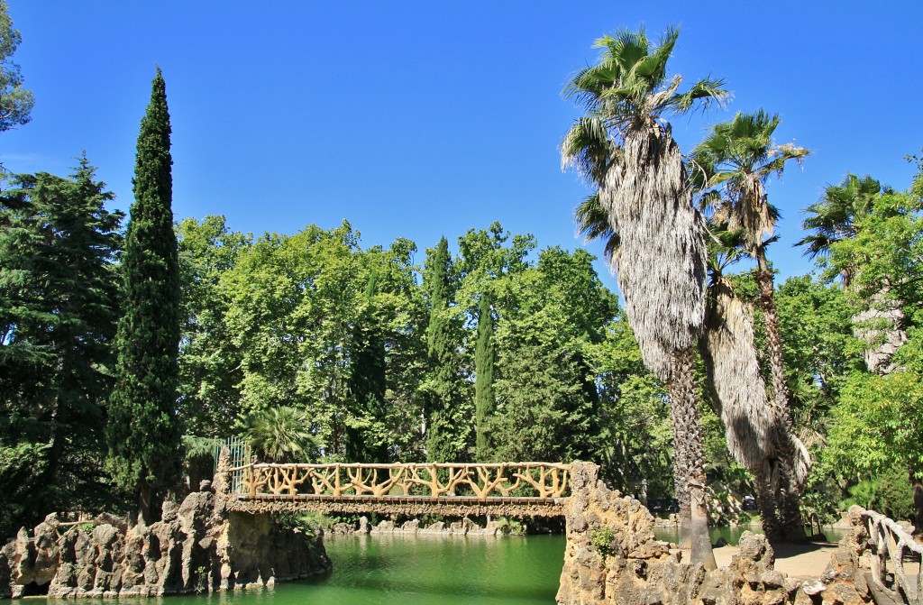
M811 258L829 256L831 247L839 241L856 237L861 219L874 212L875 200L893 193L869 175L846 175L839 185L824 188L821 200L811 204L805 212L810 216L802 227L813 231L796 246L806 246L805 254ZM846 265L840 279L847 290L857 291L859 267ZM906 342L905 314L901 300L890 296L892 283L885 280L879 290L870 293L865 309L853 317L853 332L866 346L862 351L869 371L882 374L893 370L891 357Z

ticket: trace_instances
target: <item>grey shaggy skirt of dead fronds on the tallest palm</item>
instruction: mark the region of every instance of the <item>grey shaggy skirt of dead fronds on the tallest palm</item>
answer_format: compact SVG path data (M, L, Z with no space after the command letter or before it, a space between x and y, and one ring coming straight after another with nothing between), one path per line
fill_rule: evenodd
M673 353L696 345L705 320L706 248L669 127L636 127L606 173L600 201L619 246L613 257L644 365L670 380Z

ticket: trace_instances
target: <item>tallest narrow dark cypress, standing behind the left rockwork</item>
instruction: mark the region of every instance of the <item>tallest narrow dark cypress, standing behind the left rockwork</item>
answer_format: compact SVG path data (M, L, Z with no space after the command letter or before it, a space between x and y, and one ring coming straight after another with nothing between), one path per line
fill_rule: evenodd
M138 513L152 519L153 504L179 477L180 427L176 417L180 336L179 263L173 228L170 115L158 67L147 114L141 120L123 257L124 315L115 338L116 384L106 438L116 484L138 494Z

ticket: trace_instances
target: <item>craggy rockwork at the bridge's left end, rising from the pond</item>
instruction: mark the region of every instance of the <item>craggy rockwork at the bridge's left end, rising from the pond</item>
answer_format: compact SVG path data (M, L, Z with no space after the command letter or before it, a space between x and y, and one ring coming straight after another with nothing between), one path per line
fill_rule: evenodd
M330 570L319 537L267 514L227 508L225 475L203 481L162 520L129 526L102 515L79 525L50 514L0 551L0 597L136 597L271 586Z

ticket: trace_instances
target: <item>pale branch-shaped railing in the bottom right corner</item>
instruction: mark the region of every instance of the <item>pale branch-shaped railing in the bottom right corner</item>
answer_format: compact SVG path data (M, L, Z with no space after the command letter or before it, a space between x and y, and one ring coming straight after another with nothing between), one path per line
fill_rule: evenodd
M862 511L862 524L869 533L871 545L871 577L875 585L897 602L923 605L923 565L917 571L916 586L913 575L907 573L904 563L923 559L923 544L917 543L892 519L875 511ZM888 575L892 576L889 581Z

